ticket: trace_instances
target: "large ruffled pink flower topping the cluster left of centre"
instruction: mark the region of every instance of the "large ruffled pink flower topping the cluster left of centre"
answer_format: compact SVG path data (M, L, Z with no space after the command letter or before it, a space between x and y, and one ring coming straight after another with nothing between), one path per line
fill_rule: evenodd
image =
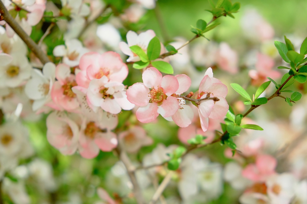
M87 88L92 79L106 76L108 80L122 83L128 75L128 67L122 62L118 53L88 52L80 58L81 71L76 75L79 86Z

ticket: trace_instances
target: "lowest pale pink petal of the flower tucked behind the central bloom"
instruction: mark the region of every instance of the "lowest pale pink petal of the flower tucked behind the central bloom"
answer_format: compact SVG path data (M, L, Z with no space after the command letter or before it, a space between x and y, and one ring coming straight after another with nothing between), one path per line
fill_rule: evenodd
M173 121L179 127L187 127L192 123L194 113L190 106L181 105L183 109L178 109L178 111L172 116Z

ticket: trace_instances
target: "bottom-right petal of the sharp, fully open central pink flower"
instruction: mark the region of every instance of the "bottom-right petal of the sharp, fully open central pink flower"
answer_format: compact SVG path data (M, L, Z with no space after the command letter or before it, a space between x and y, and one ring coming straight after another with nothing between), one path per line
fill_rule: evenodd
M162 101L162 104L158 106L158 113L167 118L174 115L179 108L178 100L176 97L168 96Z

